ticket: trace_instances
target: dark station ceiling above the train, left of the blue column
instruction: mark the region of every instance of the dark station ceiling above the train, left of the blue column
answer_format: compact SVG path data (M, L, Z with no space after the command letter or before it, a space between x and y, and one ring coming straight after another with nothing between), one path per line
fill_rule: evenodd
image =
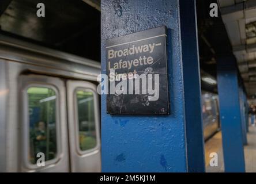
M46 7L46 17L36 16L40 2ZM90 0L1 0L0 30L100 62L98 4Z

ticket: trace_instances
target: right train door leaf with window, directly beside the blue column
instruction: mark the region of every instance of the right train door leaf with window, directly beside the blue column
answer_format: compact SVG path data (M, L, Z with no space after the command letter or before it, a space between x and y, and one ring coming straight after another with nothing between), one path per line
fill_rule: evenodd
M67 81L70 164L72 172L100 172L100 112L96 86Z

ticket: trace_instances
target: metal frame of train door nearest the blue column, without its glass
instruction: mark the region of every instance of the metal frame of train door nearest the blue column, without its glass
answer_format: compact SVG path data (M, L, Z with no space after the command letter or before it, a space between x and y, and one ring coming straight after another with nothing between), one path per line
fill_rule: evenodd
M78 132L78 110L75 97L76 89L89 90L94 98L94 116L96 127L96 147L81 151L79 148ZM67 81L67 112L69 121L69 144L72 172L100 172L101 153L100 153L100 108L96 86L84 81Z

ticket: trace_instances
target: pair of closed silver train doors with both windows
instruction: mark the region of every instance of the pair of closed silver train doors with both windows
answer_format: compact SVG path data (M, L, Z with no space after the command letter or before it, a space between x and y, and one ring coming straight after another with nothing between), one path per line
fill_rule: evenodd
M20 170L100 172L96 86L44 75L21 75L20 79Z

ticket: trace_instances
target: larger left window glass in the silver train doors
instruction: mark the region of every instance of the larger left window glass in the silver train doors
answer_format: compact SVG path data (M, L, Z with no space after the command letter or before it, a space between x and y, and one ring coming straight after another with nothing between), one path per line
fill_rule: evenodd
M42 152L45 161L57 156L56 98L49 87L29 87L29 162L36 163Z

